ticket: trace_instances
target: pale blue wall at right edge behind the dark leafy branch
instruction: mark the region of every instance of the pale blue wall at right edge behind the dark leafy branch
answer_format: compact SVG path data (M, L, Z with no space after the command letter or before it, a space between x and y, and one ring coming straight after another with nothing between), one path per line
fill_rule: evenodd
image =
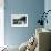
M48 10L51 10L51 0L45 0L44 1L44 11L47 12ZM44 28L50 29L51 30L51 12L48 13L48 24L44 24Z

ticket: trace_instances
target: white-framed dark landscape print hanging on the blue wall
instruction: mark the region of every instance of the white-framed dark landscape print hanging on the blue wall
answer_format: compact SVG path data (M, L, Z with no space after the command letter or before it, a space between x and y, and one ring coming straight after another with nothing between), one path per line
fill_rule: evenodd
M28 27L28 14L11 14L11 27Z

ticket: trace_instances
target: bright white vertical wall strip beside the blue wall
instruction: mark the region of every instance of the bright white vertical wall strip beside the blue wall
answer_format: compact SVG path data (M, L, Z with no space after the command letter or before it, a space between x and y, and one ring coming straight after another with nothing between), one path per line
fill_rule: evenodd
M0 0L0 47L4 45L4 0Z

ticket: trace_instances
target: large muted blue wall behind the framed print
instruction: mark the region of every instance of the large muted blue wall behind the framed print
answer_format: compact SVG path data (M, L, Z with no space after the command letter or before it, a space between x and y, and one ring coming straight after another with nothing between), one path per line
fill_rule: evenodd
M37 21L44 10L44 0L4 0L4 42L9 45L19 45L27 41L38 27ZM27 28L12 28L11 13L27 13Z

